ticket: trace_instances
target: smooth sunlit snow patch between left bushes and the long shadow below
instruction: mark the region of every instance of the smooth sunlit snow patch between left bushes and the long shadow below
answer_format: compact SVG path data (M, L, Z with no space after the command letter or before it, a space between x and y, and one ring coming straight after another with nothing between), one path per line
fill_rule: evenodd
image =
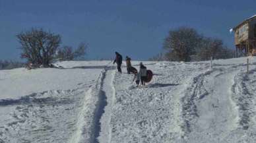
M90 76L88 76L90 74ZM94 82L99 69L14 69L0 71L0 100L49 90L71 90ZM86 82L84 82L86 81ZM80 85L78 85L80 84Z

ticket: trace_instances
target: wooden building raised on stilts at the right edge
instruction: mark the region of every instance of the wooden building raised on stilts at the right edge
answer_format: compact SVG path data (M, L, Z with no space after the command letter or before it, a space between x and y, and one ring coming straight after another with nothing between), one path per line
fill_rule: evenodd
M236 56L256 54L256 15L232 29L235 33Z

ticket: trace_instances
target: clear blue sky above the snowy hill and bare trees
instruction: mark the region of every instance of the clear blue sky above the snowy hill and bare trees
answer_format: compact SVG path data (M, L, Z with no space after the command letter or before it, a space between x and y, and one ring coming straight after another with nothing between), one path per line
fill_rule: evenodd
M62 45L89 45L88 59L148 59L162 50L168 30L190 26L234 47L229 29L256 14L256 1L238 0L0 0L0 59L19 60L16 34L44 28Z

